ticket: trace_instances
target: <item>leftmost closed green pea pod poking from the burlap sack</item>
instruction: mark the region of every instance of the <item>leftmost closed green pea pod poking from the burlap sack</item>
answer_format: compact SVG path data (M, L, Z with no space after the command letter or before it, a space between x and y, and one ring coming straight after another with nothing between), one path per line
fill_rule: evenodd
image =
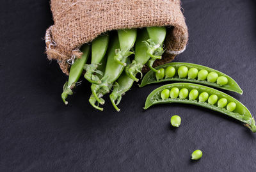
M90 54L90 45L83 45L81 48L83 55L79 59L75 59L74 64L70 67L68 81L63 86L63 93L61 94L61 98L65 104L68 104L66 98L68 95L72 95L72 88L76 86L76 82L83 72L84 63L86 63L89 54Z

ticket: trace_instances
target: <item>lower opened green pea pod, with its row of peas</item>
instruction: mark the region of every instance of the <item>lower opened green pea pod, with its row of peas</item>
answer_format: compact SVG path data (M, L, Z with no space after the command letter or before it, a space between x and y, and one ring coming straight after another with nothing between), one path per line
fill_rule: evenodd
M170 94L164 90L170 90ZM191 83L166 84L148 95L144 109L154 104L170 103L193 104L227 114L256 132L255 120L250 111L236 98L213 88Z

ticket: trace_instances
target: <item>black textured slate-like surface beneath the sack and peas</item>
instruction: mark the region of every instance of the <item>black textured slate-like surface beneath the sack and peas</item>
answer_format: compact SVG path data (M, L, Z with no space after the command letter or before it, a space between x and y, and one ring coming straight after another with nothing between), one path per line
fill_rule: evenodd
M244 91L230 93L256 113L256 1L184 0L187 50L175 61L198 63L233 77ZM255 171L256 135L242 123L182 104L144 111L159 85L138 88L108 103L88 104L83 82L61 101L67 77L47 61L42 38L52 25L46 0L1 1L0 171ZM108 97L106 97L106 100ZM179 129L170 116L179 114ZM192 162L191 152L202 159Z

